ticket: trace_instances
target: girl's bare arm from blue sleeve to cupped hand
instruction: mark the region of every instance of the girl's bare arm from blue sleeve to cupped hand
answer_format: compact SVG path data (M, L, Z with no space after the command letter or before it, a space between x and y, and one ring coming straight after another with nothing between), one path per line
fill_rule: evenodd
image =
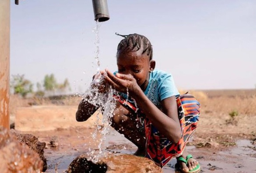
M168 97L161 101L163 111L159 110L154 103L144 94L136 80L131 75L117 74L114 76L106 71L106 81L116 90L126 92L135 99L138 107L146 114L152 124L165 135L170 141L177 143L181 138L182 131L178 119L177 102L175 96Z

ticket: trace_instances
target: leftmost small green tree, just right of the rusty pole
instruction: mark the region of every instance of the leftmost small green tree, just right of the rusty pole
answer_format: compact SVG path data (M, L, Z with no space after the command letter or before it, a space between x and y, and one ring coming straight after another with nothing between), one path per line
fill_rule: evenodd
M26 97L28 93L33 92L33 84L25 79L25 75L12 75L11 87L14 90L14 94L20 94L23 98Z

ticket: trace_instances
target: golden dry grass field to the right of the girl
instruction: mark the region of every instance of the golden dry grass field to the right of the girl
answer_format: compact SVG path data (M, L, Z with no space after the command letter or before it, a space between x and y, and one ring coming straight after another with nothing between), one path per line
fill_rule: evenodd
M185 93L186 90L179 90ZM239 115L256 115L256 89L248 90L190 90L190 94L201 104L203 113L216 112L229 114L237 111Z

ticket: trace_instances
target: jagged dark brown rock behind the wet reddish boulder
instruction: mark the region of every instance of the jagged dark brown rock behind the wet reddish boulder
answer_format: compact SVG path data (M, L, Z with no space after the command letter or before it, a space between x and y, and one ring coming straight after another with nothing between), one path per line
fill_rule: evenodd
M32 134L21 134L13 129L10 132L17 137L18 141L25 143L30 149L39 154L40 159L44 163L43 172L45 172L47 170L47 162L46 158L44 157L44 148L46 145L45 142L40 142L38 138Z

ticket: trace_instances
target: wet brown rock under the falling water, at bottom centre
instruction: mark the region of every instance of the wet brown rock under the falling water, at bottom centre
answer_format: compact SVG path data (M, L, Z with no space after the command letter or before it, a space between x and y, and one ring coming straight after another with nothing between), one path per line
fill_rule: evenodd
M97 163L88 161L89 156L82 154L76 157L67 169L67 173L162 173L161 167L152 160L135 155L108 155Z

